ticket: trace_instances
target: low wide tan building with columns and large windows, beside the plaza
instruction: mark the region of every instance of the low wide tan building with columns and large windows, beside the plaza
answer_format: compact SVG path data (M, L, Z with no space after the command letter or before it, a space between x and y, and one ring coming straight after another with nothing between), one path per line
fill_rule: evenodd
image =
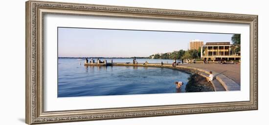
M230 42L206 42L201 47L201 58L212 61L240 60L241 56L234 52L234 48Z

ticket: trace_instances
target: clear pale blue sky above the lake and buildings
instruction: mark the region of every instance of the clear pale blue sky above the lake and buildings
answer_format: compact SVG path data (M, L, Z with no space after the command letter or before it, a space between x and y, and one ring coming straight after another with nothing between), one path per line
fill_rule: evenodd
M231 42L232 35L58 27L58 57L149 57L187 50L195 39Z

